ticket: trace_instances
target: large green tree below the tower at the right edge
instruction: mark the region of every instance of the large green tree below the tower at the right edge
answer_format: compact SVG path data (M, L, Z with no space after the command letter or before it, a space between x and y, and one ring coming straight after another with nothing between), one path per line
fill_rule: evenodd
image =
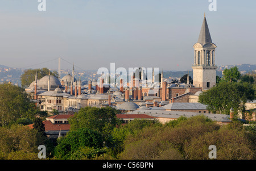
M220 82L216 87L201 93L199 102L207 105L211 112L229 115L232 107L235 114L238 110L244 112L245 103L254 98L255 90L247 82Z

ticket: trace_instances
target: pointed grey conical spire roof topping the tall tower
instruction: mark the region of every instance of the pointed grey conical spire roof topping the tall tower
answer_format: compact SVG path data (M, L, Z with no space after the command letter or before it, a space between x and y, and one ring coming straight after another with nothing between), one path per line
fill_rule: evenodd
M210 31L205 16L197 43L200 43L201 45L204 45L206 43L212 43L212 38L210 37Z

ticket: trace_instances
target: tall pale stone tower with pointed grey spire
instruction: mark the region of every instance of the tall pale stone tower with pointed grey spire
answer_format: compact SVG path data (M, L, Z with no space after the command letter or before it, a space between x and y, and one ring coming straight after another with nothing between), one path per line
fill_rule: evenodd
M193 85L202 87L203 90L216 86L215 48L212 43L207 20L204 20L201 27L199 39L193 48L195 49L193 69Z

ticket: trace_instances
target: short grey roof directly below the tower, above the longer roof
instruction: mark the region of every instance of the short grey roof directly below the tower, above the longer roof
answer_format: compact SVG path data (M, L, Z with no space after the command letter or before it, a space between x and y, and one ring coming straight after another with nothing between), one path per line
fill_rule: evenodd
M163 108L168 110L207 110L207 106L201 103L169 103Z

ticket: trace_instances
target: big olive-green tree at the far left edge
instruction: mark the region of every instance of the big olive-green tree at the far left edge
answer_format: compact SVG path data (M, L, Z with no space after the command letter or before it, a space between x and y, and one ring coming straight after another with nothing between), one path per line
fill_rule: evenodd
M39 109L31 103L24 89L16 85L0 85L0 125L7 126L19 118L34 119Z

